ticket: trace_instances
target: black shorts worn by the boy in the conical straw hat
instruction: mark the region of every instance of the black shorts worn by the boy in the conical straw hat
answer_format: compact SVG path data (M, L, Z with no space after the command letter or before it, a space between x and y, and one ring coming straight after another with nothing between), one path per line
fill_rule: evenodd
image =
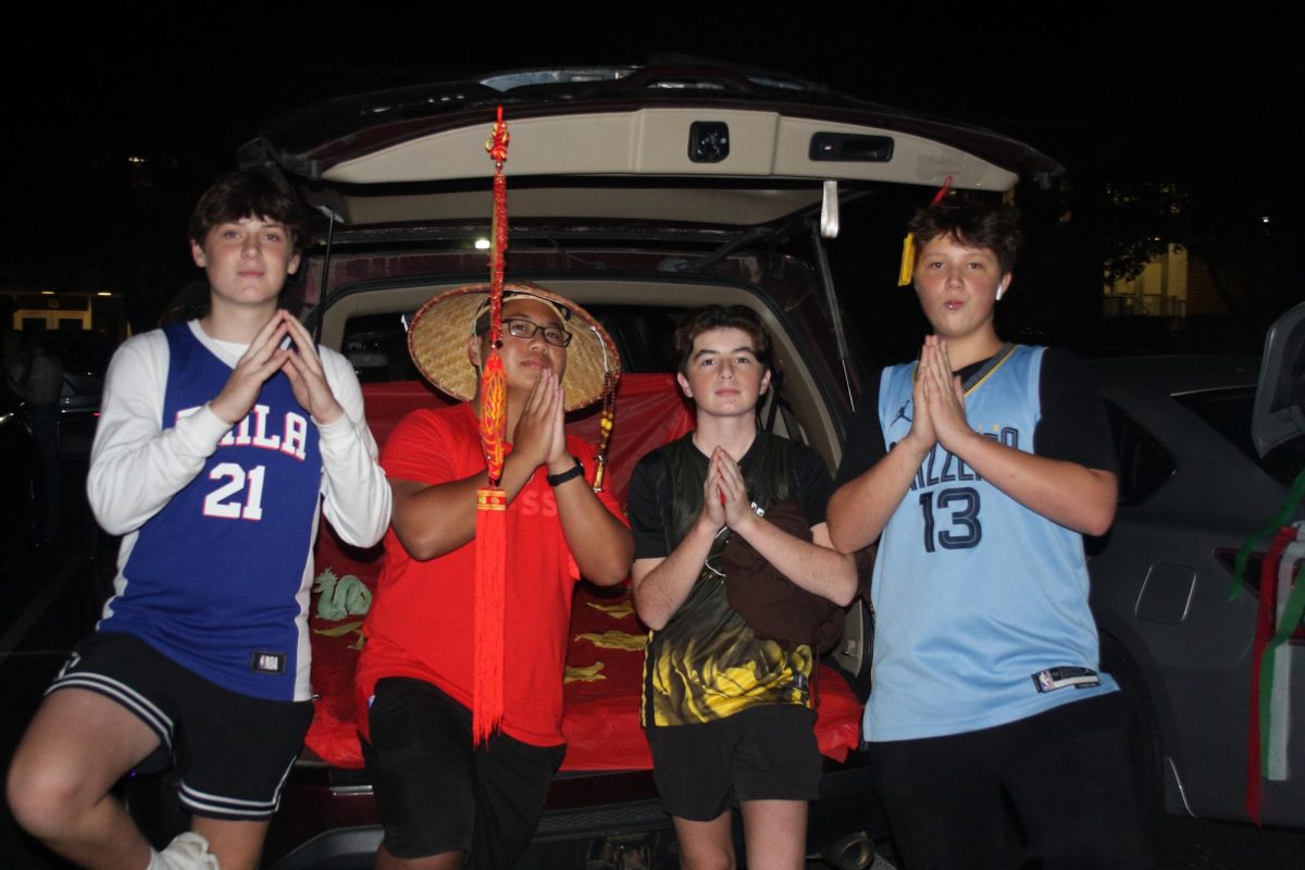
M472 867L512 867L530 845L565 745L504 733L472 747L471 711L407 677L376 683L363 741L367 775L398 858L466 852Z

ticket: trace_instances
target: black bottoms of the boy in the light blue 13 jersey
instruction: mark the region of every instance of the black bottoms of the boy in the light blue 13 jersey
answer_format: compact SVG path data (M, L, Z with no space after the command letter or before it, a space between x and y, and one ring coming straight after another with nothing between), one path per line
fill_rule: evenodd
M981 730L872 742L869 751L907 866L1154 866L1118 693ZM1011 810L1023 843L1006 836Z

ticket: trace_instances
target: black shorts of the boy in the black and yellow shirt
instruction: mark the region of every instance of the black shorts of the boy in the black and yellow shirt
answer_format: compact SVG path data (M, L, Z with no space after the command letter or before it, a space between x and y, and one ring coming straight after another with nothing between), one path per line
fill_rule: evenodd
M765 704L701 725L649 728L662 809L710 822L743 801L813 801L821 757L816 713Z

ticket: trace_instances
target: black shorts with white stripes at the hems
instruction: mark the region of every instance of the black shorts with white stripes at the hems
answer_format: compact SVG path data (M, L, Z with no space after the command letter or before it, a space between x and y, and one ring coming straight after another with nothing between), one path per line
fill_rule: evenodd
M313 720L311 700L264 700L223 689L140 638L99 631L77 644L46 694L86 689L158 734L141 772L176 767L183 806L235 822L270 819Z

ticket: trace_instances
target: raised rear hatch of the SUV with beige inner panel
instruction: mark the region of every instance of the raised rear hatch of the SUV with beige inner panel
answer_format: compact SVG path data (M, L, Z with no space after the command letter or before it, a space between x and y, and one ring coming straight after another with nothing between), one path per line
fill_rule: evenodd
M796 256L816 274L823 339L806 342L806 363L837 373L825 397L835 417L864 377L825 250L843 230L840 206L893 192L917 203L944 184L1005 194L1064 172L1000 133L718 65L518 70L342 97L269 124L240 150L243 166L278 167L325 218L321 256L303 269L307 305L356 283L335 260L350 250L483 243L484 142L499 107L512 136L513 277L547 279L551 265L522 269L527 252L577 243L662 245L655 271L668 283L741 254L758 257L743 271Z

